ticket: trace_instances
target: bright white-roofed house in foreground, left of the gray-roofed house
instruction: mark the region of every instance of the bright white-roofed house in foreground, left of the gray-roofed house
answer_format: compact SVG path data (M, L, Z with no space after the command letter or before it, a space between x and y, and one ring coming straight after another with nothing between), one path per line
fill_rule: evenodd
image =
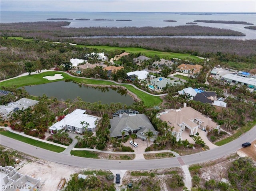
M87 129L95 131L99 117L85 114L86 110L76 109L67 114L62 120L53 124L49 129L51 134L58 130L68 130L70 132L82 134ZM81 122L84 122L82 124Z

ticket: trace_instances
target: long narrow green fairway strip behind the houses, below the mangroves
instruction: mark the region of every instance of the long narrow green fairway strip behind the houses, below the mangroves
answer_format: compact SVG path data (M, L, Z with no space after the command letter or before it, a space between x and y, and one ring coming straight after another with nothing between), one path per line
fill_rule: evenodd
M202 59L192 56L190 54L182 54L182 53L173 53L173 52L161 52L161 51L154 51L148 50L144 48L134 48L134 47L109 47L109 46L85 46L85 45L77 45L79 47L88 47L88 48L96 48L96 49L105 49L105 50L124 50L129 53L141 53L147 57L153 57L154 55L158 55L159 57L163 58L166 57L168 59L172 58L179 58L179 59L194 59L196 61L200 61Z

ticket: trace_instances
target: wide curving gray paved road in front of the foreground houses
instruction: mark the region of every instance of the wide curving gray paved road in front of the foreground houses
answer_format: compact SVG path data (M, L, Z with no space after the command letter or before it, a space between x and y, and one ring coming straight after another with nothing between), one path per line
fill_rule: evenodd
M180 163L176 158L164 158L154 160L131 160L131 161L118 161L118 160L105 160L105 159L91 159L91 158L80 158L76 156L68 156L60 154L42 148L38 148L6 136L0 136L1 145L7 146L14 150L18 150L25 154L53 161L56 163L62 163L66 165L88 167L93 169L112 169L112 170L142 170L142 169L159 169L159 168L170 168L178 167ZM201 163L212 159L221 158L222 156L228 155L232 152L241 148L242 143L252 142L256 139L256 126L248 131L238 139L218 148L208 150L201 153L192 155L182 156L181 158L187 165Z

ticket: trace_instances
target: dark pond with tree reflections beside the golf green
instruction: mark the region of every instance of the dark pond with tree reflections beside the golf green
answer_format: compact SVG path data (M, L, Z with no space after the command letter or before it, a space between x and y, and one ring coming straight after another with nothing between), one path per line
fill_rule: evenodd
M25 86L25 90L34 96L45 94L49 98L56 97L58 100L71 100L78 96L85 102L98 102L102 104L124 103L131 105L134 103L132 96L121 88L101 88L78 85L74 82L58 81L41 85Z

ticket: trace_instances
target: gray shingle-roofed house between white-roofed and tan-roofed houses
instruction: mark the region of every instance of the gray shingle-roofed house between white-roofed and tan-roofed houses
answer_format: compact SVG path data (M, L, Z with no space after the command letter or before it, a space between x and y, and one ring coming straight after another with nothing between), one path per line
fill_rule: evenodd
M150 130L154 134L154 137L151 138L150 141L154 141L158 135L158 132L155 130L145 114L129 115L123 113L110 119L110 124L110 137L121 138L122 132L124 131L124 136L136 133L137 137L141 138L142 140L146 140L145 133Z

